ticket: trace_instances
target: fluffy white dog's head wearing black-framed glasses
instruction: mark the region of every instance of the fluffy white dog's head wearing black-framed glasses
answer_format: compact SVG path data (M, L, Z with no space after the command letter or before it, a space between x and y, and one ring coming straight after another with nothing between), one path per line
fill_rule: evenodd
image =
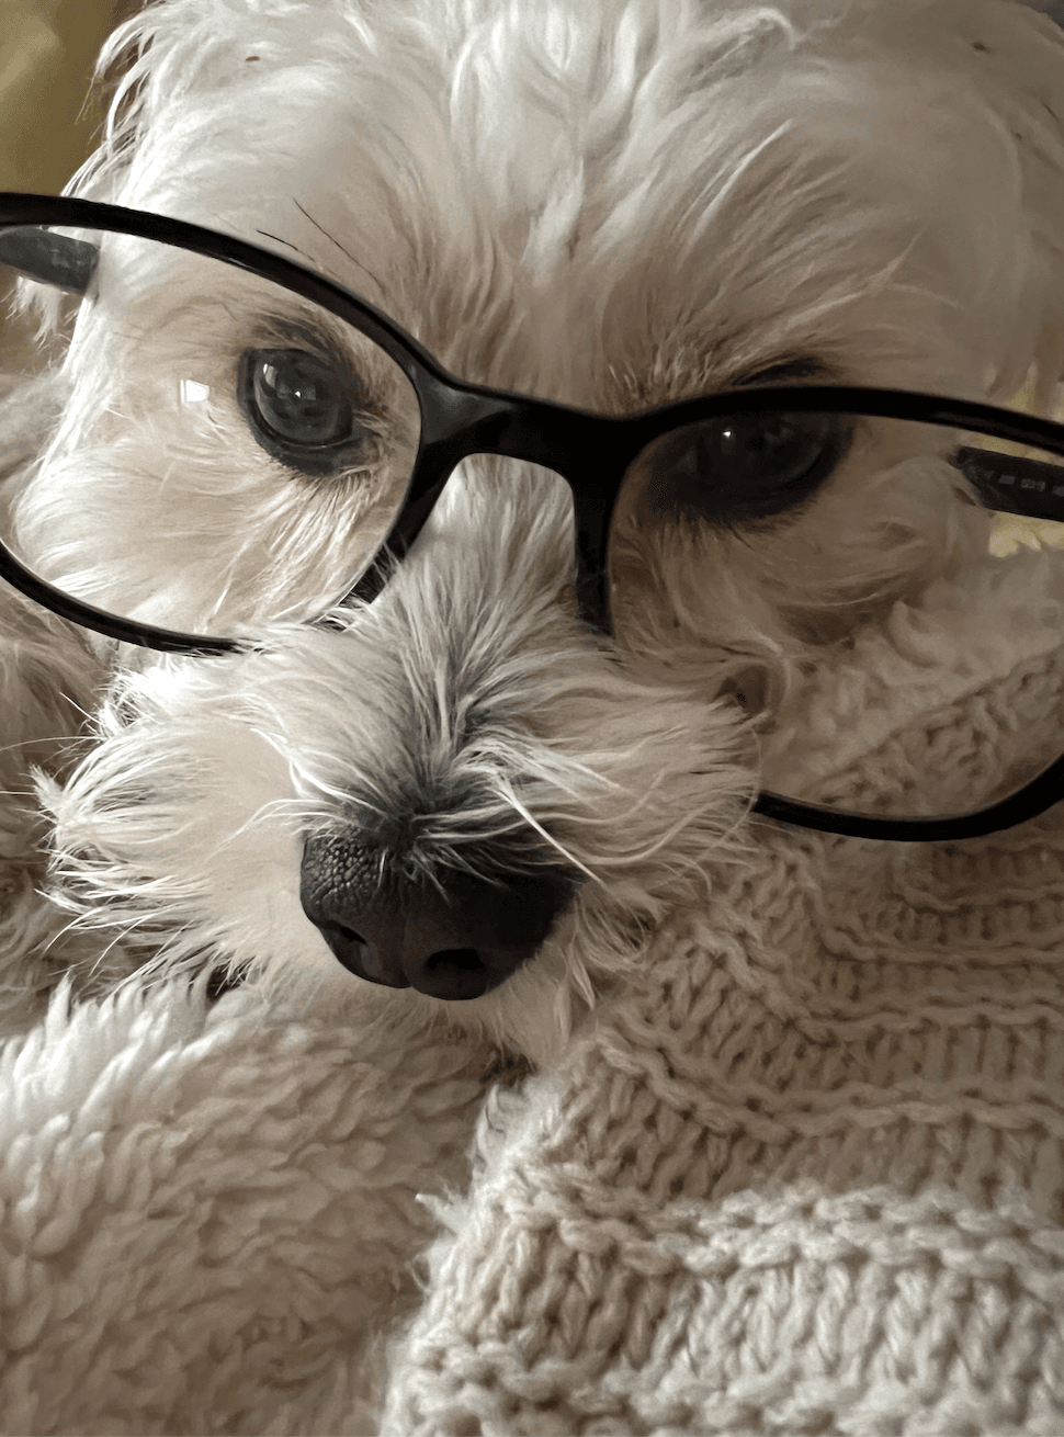
M161 0L104 59L72 193L289 257L469 382L618 415L772 382L1004 401L1032 365L1044 401L1061 372L1064 46L1012 0ZM380 596L335 608L416 407L362 345L361 487L293 458L263 397L351 336L196 273L105 244L70 349L6 410L40 573L256 638L93 641L101 741L42 780L65 901L119 969L546 1061L709 852L742 861L758 714L982 562L986 514L873 444L801 502L680 522L692 451L666 444L676 512L638 476L618 503L610 637L577 614L568 486L466 458ZM30 608L4 621L23 644Z

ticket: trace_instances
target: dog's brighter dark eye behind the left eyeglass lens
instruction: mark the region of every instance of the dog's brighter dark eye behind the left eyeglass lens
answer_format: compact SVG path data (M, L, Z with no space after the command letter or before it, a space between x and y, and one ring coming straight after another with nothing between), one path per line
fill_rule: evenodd
M249 349L240 359L239 401L252 433L305 474L335 474L372 458L361 398L334 362L305 349Z

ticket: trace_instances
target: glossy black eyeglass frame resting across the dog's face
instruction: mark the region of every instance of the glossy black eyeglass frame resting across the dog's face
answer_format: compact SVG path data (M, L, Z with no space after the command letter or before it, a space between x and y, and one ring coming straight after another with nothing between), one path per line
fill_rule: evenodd
M653 440L671 430L730 414L759 411L861 414L912 420L1045 448L1064 458L1064 424L995 405L906 389L853 385L758 385L683 399L634 415L602 415L569 405L469 384L449 374L413 336L374 305L332 280L244 240L167 216L58 195L0 193L0 240L20 227L116 231L158 240L247 270L321 305L361 331L400 366L421 411L421 435L405 500L351 595L372 601L417 539L456 466L474 454L525 460L554 470L572 493L577 532L575 588L587 624L610 635L607 543L624 476ZM10 262L9 262L10 263ZM16 269L20 266L14 266ZM24 273L30 273L24 270ZM42 279L39 273L32 277ZM45 282L86 290L91 263ZM587 466L587 456L594 464ZM959 460L988 507L1064 522L1064 471L988 450ZM1060 479L1061 483L1054 483ZM240 639L206 638L106 614L52 588L0 542L0 578L62 618L124 644L162 652L221 655L246 650ZM880 818L788 799L762 790L753 812L821 832L897 842L976 838L1045 812L1064 798L1064 754L1019 792L950 818Z

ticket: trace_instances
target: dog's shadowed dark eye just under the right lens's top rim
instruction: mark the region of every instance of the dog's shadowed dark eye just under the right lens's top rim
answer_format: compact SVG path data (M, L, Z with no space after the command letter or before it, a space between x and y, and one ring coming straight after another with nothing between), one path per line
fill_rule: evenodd
M733 414L686 425L641 456L647 506L726 523L784 513L838 466L851 434L840 414Z

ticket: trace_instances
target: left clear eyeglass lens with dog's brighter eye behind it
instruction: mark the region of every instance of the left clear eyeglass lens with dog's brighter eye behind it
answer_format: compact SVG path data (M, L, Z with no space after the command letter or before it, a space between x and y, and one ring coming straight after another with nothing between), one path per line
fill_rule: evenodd
M0 539L122 618L223 638L316 618L403 506L420 430L410 381L269 280L102 239L96 297L62 299L76 313L58 339L53 433L6 486Z

